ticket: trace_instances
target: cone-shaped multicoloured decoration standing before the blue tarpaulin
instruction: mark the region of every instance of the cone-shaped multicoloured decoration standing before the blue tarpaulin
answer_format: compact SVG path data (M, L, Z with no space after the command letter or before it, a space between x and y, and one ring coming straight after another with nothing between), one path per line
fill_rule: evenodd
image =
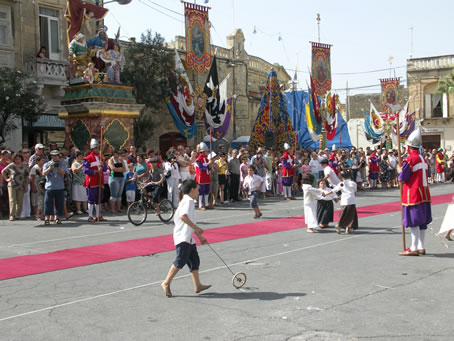
M255 151L258 147L265 146L266 132L274 133L277 150L283 151L286 142L292 148L296 144L295 132L287 110L287 99L274 70L269 73L266 80L265 91L249 140L250 150Z

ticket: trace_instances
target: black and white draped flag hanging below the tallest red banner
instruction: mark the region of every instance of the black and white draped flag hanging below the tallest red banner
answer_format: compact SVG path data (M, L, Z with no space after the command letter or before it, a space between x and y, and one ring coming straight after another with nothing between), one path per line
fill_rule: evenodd
M204 94L207 96L205 107L205 128L216 139L221 139L229 130L232 115L232 98L227 98L227 79L219 84L216 56L213 57L210 72L208 73Z

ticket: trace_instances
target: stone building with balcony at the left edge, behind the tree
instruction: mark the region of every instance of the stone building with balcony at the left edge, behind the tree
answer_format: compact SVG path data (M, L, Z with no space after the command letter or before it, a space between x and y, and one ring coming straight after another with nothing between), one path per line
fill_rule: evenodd
M39 85L47 109L32 126L14 131L6 144L64 141L64 122L57 118L66 86L66 0L0 0L0 67L29 72ZM47 60L36 55L46 47ZM19 122L19 126L22 124Z

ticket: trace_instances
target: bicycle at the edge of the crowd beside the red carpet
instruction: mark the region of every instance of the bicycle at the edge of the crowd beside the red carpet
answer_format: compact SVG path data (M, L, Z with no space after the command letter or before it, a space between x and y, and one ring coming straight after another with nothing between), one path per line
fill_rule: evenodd
M141 189L140 199L128 207L128 219L131 224L142 225L147 220L148 210L156 212L151 196L145 195ZM167 199L159 201L159 211L158 217L163 223L168 223L175 213L172 203Z

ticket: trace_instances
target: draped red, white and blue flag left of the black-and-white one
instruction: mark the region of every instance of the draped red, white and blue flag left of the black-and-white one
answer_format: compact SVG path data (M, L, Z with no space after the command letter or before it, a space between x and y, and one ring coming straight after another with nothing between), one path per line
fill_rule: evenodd
M197 131L193 91L177 50L175 50L175 72L171 75L169 79L171 88L164 91L167 108L180 134L190 139Z

